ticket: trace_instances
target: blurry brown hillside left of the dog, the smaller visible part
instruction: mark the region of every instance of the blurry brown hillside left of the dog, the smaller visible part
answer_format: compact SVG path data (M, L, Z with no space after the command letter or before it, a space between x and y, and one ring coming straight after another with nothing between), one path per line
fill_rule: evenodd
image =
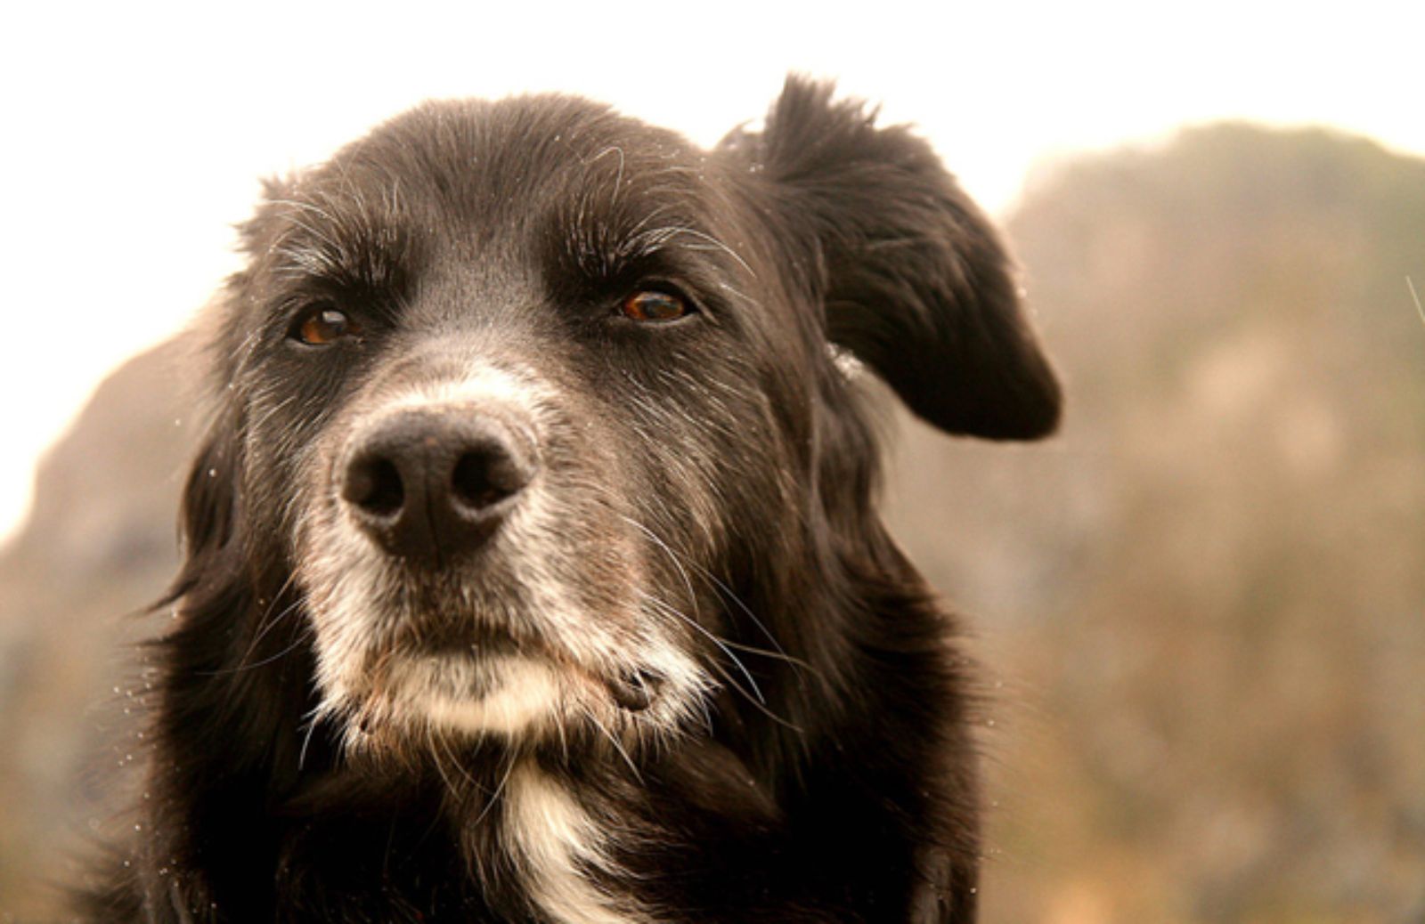
M0 921L53 920L66 850L111 816L135 618L177 565L192 429L177 342L115 372L40 467L24 530L0 552Z

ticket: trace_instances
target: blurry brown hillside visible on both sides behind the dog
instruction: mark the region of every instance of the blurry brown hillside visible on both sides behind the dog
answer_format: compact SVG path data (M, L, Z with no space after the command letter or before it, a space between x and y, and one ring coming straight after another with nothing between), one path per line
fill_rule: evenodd
M1063 436L906 423L888 498L988 665L985 918L1425 921L1425 162L1194 130L1050 169L1010 236ZM0 555L0 918L125 759L174 356L104 386Z

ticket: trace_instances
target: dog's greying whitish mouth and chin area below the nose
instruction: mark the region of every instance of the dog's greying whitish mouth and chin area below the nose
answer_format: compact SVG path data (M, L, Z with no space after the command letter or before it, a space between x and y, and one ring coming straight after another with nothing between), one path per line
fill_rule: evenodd
M432 732L530 743L613 735L626 746L678 735L700 715L711 681L687 639L638 605L637 537L600 532L593 515L554 518L601 510L579 495L527 494L479 562L443 571L389 554L333 515L339 505L304 535L335 550L306 555L301 578L322 708L358 732L353 746Z

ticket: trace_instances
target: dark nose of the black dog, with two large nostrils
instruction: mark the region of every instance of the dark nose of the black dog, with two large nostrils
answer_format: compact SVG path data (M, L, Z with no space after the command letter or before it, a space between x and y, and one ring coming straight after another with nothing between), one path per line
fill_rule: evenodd
M500 420L409 410L352 440L341 497L392 555L442 564L483 545L537 468L533 440Z

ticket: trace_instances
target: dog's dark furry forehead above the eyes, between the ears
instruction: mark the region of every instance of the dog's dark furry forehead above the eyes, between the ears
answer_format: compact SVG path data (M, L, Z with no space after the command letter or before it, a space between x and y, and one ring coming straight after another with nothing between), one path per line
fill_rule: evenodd
M722 239L722 179L680 135L577 97L432 103L276 188L248 245L276 276L355 288L597 276Z

